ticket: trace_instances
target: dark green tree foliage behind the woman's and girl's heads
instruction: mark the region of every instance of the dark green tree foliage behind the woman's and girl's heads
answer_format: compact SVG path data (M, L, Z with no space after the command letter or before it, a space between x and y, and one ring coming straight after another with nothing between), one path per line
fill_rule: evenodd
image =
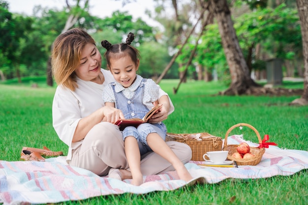
M34 16L23 17L10 13L5 1L0 3L2 5L0 7L0 69L6 79L17 77L16 70L21 76L46 73L52 44L62 32L70 14L79 16L74 27L88 29L97 42L101 54L105 53L100 45L102 40L122 43L128 32L136 35L133 42L136 47L143 42L155 40L154 29L140 18L133 21L132 16L127 12L116 11L111 17L100 19L90 16L87 6L81 8L77 4L71 7L69 13L65 8L57 10L36 6ZM156 60L160 63L158 67L162 64L159 58L157 57ZM162 61L164 62L165 58ZM104 59L102 65L103 67L106 65Z

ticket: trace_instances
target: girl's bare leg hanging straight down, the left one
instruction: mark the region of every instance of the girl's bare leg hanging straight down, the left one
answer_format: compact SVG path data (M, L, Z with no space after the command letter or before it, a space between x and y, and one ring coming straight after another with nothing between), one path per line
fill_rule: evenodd
M143 176L140 170L140 151L137 139L134 136L126 137L124 147L126 159L133 178L131 184L139 186L143 183Z

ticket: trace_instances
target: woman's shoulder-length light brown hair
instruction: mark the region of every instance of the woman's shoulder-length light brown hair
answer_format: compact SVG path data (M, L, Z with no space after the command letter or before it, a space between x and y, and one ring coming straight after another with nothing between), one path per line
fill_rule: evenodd
M94 39L85 30L74 28L60 34L51 55L52 73L58 85L75 90L75 70L80 65L82 50L86 44L95 45Z

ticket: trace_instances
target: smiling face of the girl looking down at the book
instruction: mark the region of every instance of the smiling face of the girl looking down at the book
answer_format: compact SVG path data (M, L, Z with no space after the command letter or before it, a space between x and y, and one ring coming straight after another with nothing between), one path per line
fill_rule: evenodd
M111 58L110 65L108 65L115 80L124 88L128 88L135 81L138 67L139 59L137 65L135 65L128 55L125 55L120 59Z

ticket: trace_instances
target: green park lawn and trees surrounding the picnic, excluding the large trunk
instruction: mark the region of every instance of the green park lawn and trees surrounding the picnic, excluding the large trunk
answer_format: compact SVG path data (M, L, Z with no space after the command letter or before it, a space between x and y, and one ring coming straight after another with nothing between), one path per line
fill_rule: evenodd
M295 1L227 1L249 76L262 88L300 90L289 94L264 92L231 96L218 94L229 88L232 79L215 18L198 40L201 25L208 16L196 24L203 11L199 3L207 1L154 1L157 4L151 15L159 22L159 27L149 26L123 11L115 11L106 18L92 16L85 4L89 1L68 2L72 3L69 8L65 3L60 9L37 6L32 15L25 15L11 13L9 4L0 0L1 160L18 161L22 146L46 145L66 154L67 147L52 127L51 105L56 85L48 78L48 59L52 42L66 28L67 22L72 23L70 27L87 29L101 53L104 53L101 40L118 43L128 32L136 33L138 38L134 46L141 51L143 66L139 74L154 80L159 79L187 39L182 52L159 83L176 107L165 122L168 131L205 131L224 138L229 127L246 122L256 127L261 136L269 134L270 141L281 148L308 150L308 108L289 105L302 95L305 80L301 26ZM129 3L129 0L121 2ZM178 3L178 16L174 10L171 13L172 2ZM78 16L77 21L67 21L69 16ZM196 42L198 45L189 62ZM277 85L268 85L269 59L281 62L282 76L278 79L282 80ZM180 87L179 78L183 79ZM299 81L289 80L294 78ZM242 134L237 132L240 133L233 134ZM256 142L253 132L243 132L246 140ZM308 203L307 181L307 170L304 170L293 176L228 179L170 192L102 196L67 204L304 205Z

